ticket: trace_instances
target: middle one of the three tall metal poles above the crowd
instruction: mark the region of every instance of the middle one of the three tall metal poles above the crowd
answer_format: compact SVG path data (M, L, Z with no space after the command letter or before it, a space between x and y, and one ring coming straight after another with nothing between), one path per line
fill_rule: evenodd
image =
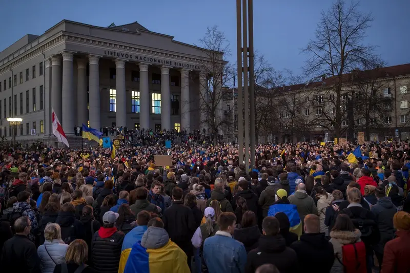
M248 16L247 16L247 0L242 0L242 16L243 16L243 95L244 95L244 127L245 127L245 166L248 172L249 169L249 93L248 93Z

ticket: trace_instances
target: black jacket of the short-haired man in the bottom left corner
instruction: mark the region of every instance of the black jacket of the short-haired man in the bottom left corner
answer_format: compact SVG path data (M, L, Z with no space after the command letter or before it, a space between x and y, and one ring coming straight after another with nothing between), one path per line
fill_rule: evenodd
M0 268L2 272L42 273L37 249L24 235L14 235L3 245Z

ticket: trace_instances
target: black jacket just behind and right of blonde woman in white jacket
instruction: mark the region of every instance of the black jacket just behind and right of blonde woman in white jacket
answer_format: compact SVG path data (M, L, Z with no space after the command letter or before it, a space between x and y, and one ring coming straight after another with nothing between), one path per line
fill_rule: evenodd
M85 239L83 224L75 218L72 212L59 212L55 220L61 227L61 240L70 244L75 239Z

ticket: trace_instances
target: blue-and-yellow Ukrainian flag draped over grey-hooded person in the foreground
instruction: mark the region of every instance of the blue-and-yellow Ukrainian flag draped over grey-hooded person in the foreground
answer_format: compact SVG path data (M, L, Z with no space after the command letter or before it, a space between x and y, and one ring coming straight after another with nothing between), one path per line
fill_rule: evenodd
M121 270L123 269L118 269ZM169 240L165 246L157 249L147 249L139 242L132 246L124 273L162 272L190 273L187 255L174 242Z

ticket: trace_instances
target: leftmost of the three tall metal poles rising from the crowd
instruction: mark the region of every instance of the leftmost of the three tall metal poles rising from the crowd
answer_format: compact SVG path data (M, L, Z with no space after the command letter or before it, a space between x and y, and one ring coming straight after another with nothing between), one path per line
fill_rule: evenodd
M246 8L246 7L245 7ZM241 24L241 0L236 0L236 46L238 66L238 162L243 162L243 93L242 93L242 24ZM235 122L235 121L234 121Z

